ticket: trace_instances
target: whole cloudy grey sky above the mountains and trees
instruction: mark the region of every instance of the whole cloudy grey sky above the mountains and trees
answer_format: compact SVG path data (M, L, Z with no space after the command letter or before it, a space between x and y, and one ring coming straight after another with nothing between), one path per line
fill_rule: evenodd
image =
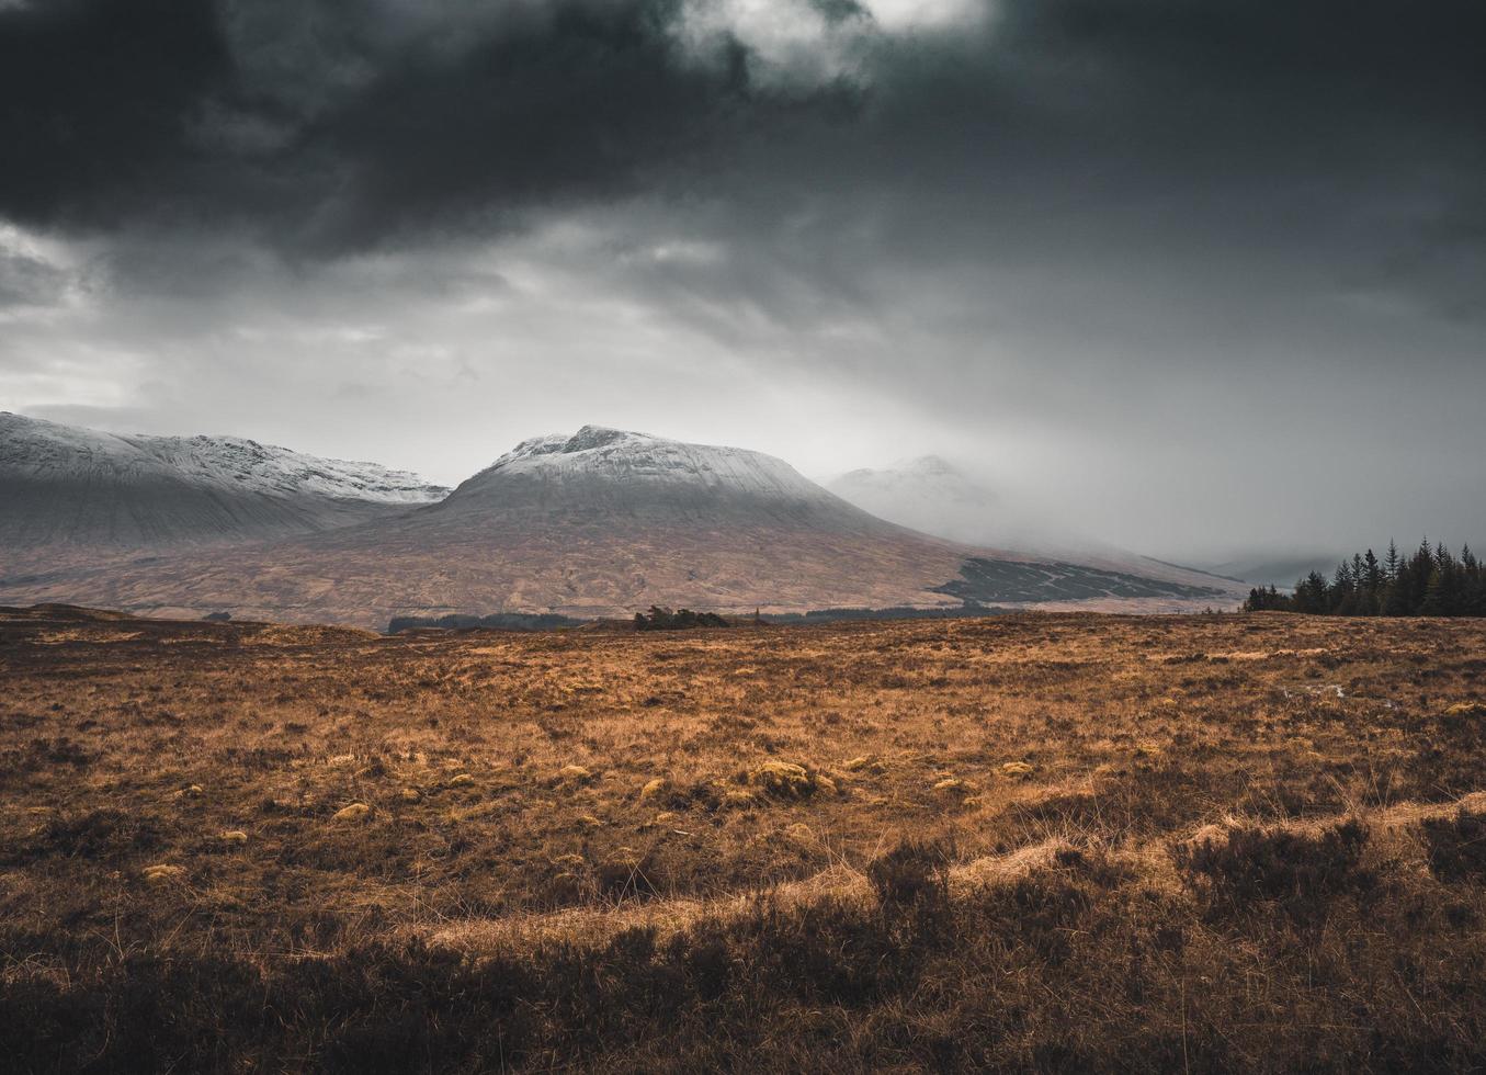
M1486 546L1479 0L0 0L0 409Z

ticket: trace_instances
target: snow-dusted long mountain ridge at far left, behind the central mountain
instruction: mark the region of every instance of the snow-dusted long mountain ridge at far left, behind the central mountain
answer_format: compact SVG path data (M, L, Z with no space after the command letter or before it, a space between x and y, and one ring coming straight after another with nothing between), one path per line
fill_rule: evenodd
M0 412L0 566L348 526L447 489L238 437L114 436Z

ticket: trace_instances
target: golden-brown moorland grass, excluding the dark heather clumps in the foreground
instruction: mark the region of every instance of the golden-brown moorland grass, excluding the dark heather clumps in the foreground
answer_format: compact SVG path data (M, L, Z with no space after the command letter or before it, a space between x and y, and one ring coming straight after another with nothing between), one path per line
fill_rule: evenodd
M1486 809L1477 795L1486 790L1483 674L1486 624L1470 620L1018 616L382 639L0 617L3 974L73 996L89 981L135 974L128 953L233 953L233 966L251 968L272 992L290 962L349 961L369 944L425 946L487 966L556 959L547 944L599 952L643 929L657 946L675 937L695 947L685 962L703 958L709 923L755 937L739 947L743 934L727 935L740 965L764 950L756 938L788 934L791 914L837 916L811 928L854 952L868 940L841 941L832 929L857 922L851 916L878 920L871 864L915 840L947 849L953 910L914 911L912 928L927 932L901 944L939 959L929 934L945 922L961 938L996 935L1003 969L990 956L973 972L954 969L954 990L1002 1011L1010 984L996 974L1015 963L1027 998L1043 996L1039 989L1064 998L1024 999L1021 1030L1002 1027L961 1063L1052 1069L1048 1050L1064 1042L1067 1063L1079 1066L1095 1044L1079 1038L1074 1048L1068 1035L1104 1026L1117 1041L1125 1011L1134 1014L1122 1032L1153 1035L1141 1039L1152 1057L1168 1056L1162 1035L1180 1044L1186 1013L1192 1066L1378 1066L1394 1054L1366 1045L1363 1030L1327 1030L1334 1051L1321 1056L1323 1039L1291 1026L1340 1018L1351 996L1386 1024L1375 1036L1424 1035L1415 1045L1446 1050L1433 1066L1452 1066L1468 1059L1461 1042L1486 1030L1486 1011L1430 983L1465 974L1459 961L1486 961L1450 932L1456 919L1480 920L1486 900L1476 882L1433 879L1419 825L1455 816L1461 803ZM1271 929L1262 914L1210 907L1205 882L1175 865L1178 848L1219 842L1233 827L1315 836L1342 818L1366 822L1366 873L1380 880L1355 907L1352 895L1340 910L1323 907L1320 925L1285 925L1293 935L1262 932ZM1065 928L1088 937L1037 932L1051 914L1039 901L1052 898L1037 886L1049 885L1077 892L1067 897L1076 920ZM991 904L1003 914L994 926L973 917ZM1391 935L1375 937L1370 919L1392 922ZM1137 926L1146 931L1138 943L1126 935ZM997 934L1012 928L1022 932ZM1162 947L1164 929L1181 934L1180 949ZM954 966L969 966L976 943L951 944L942 958L955 953ZM1345 953L1364 949L1425 975L1407 977L1422 1010L1413 1023L1394 1021L1382 986L1348 977L1363 963ZM1098 1008L1114 986L1054 958L1068 950L1110 974L1122 968L1117 989L1134 978L1147 992ZM1410 962L1427 959L1428 972ZM1309 978L1297 977L1305 961ZM933 974L951 980L948 969ZM1251 977L1245 995L1235 974L1288 992L1260 996ZM443 978L429 981L441 989ZM874 986L865 1008L755 996L750 1018L773 1020L759 1033L819 1050L770 1045L761 1066L935 1066L926 1044L935 1035L976 1042L990 1033L964 1023L972 1013L957 1002L893 989ZM377 1004L394 1004L388 996ZM1095 1007L1074 1011L1077 998ZM909 1010L911 1041L892 1044L883 1027ZM813 1036L816 1017L801 1011L826 1013L819 1017L834 1029ZM1062 1030L1057 1011L1071 1020ZM646 1018L660 1020L657 1041L675 1030ZM272 1033L285 1026L294 1026L288 1016ZM744 1023L730 1027L750 1033ZM575 1053L574 1038L545 1033L522 1039L526 1063L666 1068L684 1056L709 1065L730 1056L695 1041L626 1053L636 1048L630 1030L594 1030ZM265 1062L328 1063L328 1053L285 1059L312 1056L296 1053L309 1048L296 1041ZM1193 1063L1193 1053L1207 1059ZM221 1066L244 1060L233 1053ZM461 1063L498 1068L499 1059Z

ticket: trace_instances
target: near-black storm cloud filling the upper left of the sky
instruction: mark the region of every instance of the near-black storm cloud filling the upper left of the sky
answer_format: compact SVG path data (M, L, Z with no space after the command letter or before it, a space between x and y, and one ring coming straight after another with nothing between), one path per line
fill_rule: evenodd
M496 15L492 15L492 9ZM59 0L0 10L0 214L343 251L635 193L801 107L670 0ZM841 13L832 18L843 18ZM822 104L849 106L837 86Z

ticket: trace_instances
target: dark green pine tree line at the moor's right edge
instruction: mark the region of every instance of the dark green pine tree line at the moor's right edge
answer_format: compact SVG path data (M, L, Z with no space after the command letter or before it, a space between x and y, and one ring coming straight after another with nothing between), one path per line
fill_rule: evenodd
M1422 541L1413 556L1401 556L1389 541L1388 555L1373 550L1342 561L1336 574L1312 571L1294 593L1274 586L1248 592L1244 611L1309 613L1312 616L1486 616L1486 566L1470 546L1453 556L1443 544Z

